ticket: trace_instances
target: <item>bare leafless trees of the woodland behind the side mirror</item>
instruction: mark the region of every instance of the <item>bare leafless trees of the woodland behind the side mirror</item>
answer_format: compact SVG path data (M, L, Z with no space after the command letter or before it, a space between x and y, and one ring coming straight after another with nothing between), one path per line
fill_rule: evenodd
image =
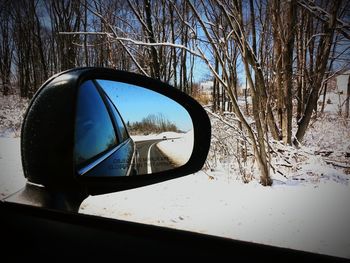
M326 97L318 100L329 80L350 67L350 3L1 0L0 36L4 96L30 98L59 71L102 66L160 79L200 99L200 63L214 81L208 112L234 114L246 138L237 152L244 158L248 145L260 182L270 185L269 141L297 147L323 110ZM241 86L249 90L241 94ZM238 103L243 95L250 105Z

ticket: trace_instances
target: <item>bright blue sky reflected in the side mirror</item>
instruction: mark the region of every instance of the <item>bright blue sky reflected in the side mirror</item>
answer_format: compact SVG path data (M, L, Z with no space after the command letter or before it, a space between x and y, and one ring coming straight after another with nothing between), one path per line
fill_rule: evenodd
M150 114L161 113L180 130L193 129L187 111L166 96L127 83L110 80L97 82L116 105L125 122L141 121Z

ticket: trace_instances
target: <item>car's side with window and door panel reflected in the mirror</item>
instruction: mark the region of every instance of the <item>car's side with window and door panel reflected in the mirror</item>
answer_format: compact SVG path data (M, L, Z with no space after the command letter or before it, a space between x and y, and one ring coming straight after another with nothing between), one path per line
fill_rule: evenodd
M79 175L126 176L135 173L134 143L115 106L91 80L78 90L75 138L74 154Z

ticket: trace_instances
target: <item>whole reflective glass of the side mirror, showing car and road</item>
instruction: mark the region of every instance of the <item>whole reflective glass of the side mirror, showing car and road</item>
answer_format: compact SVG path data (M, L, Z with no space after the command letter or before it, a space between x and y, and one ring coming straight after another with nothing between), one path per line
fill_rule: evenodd
M81 176L133 176L186 164L193 124L174 100L152 90L109 80L78 89L75 164Z

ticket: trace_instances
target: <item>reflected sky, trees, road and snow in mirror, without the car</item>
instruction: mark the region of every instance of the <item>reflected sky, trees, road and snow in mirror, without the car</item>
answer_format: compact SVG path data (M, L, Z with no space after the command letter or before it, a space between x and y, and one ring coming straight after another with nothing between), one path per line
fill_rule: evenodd
M193 126L177 102L127 83L97 80L122 116L135 142L139 174L161 172L187 163Z

